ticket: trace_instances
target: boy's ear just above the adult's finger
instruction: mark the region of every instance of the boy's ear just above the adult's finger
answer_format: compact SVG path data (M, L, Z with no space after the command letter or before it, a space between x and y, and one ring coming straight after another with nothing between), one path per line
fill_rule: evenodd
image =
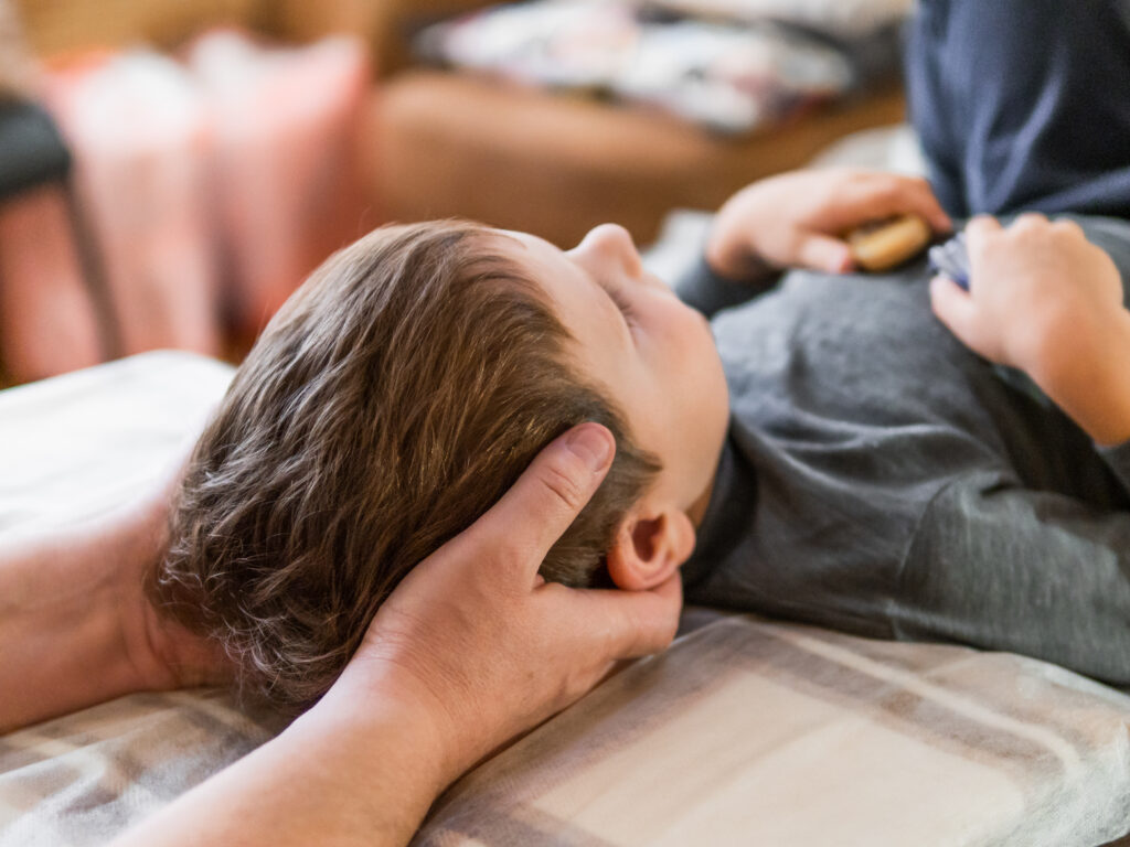
M608 551L608 575L617 587L646 591L666 582L695 549L695 526L685 512L631 513Z

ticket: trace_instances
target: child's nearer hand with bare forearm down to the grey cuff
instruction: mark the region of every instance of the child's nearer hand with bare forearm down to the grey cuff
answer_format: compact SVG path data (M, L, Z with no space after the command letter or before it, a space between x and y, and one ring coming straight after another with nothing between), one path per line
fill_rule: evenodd
M966 228L972 278L945 278L933 311L963 343L1026 372L1099 444L1130 438L1130 312L1111 257L1072 221L1025 215Z

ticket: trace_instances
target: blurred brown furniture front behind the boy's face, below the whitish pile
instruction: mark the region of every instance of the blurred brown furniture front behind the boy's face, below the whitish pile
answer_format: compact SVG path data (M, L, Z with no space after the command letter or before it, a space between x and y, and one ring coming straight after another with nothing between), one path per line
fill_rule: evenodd
M836 138L903 115L902 91L889 90L729 139L642 108L409 71L370 103L366 189L388 220L467 217L560 246L615 221L645 244L670 209L715 209Z

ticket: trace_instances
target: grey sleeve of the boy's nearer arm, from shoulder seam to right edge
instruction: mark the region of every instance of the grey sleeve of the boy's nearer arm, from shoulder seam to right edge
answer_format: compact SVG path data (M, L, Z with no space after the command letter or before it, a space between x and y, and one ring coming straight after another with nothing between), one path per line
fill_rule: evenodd
M931 500L893 595L897 638L1038 656L1130 686L1130 512L962 475Z

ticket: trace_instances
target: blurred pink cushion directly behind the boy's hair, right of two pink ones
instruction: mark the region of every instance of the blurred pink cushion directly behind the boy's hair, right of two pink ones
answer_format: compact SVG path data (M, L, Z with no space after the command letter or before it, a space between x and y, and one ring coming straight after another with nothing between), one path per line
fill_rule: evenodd
M370 70L355 38L270 49L216 32L189 50L215 128L217 235L237 331L255 332L360 235L357 131Z

